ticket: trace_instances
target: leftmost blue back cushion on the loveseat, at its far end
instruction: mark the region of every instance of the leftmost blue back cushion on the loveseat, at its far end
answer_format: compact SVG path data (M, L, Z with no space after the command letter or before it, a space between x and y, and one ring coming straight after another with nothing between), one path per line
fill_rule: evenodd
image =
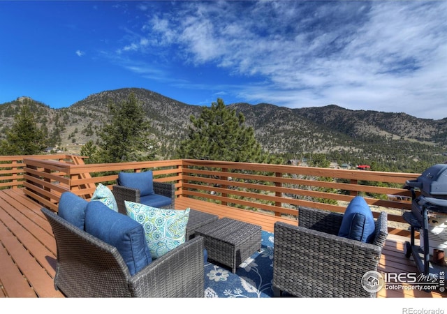
M59 216L67 220L68 223L72 223L76 227L84 230L87 204L89 202L82 197L71 192L64 192L59 200L57 211Z

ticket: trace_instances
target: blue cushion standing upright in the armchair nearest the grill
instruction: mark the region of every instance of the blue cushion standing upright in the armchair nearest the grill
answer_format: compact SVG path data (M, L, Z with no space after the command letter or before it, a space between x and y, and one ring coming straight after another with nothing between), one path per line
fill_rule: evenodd
M374 217L365 199L356 196L344 212L339 236L357 241L372 243L375 230Z

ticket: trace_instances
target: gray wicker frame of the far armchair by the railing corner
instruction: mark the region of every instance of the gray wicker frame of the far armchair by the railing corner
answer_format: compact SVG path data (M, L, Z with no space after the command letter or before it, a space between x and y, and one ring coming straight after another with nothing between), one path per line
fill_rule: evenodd
M153 184L155 194L170 197L170 199L172 200L171 204L166 205L162 208L173 209L175 204L175 185L158 181L153 181ZM124 215L126 215L126 205L124 204L125 200L135 203L139 203L141 200L140 190L129 188L126 186L120 186L119 182L112 187L112 193L115 196L115 200L117 201L118 211Z

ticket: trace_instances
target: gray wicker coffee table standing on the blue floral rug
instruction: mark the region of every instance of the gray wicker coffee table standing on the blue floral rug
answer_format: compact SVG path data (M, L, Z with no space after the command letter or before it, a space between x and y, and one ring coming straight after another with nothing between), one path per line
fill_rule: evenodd
M202 236L208 259L226 265L233 273L244 260L261 250L261 226L221 218L196 230Z

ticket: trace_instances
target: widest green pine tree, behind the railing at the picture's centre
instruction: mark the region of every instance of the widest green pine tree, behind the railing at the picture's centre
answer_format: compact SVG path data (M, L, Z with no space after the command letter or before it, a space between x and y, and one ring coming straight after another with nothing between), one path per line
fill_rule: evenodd
M187 138L177 151L179 158L268 162L254 129L244 124L244 115L226 107L221 98L204 107L200 117L191 116L190 121Z

